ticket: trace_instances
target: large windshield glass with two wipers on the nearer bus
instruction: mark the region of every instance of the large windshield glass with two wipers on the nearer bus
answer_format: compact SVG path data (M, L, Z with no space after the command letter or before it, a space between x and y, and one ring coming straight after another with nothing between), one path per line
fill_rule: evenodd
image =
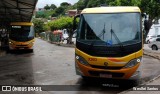
M77 40L94 45L141 41L140 13L82 14Z

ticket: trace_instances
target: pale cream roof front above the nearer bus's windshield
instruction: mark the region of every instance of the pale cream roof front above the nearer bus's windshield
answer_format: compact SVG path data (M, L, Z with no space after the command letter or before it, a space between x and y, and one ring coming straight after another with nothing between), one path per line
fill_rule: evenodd
M116 7L95 7L95 8L86 8L81 14L84 13L121 13L121 12L141 12L140 9L136 6L116 6Z

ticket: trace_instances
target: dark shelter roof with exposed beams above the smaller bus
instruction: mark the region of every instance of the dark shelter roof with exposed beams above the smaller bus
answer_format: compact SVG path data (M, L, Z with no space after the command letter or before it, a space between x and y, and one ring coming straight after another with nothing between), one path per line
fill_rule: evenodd
M0 22L30 22L38 0L0 0Z

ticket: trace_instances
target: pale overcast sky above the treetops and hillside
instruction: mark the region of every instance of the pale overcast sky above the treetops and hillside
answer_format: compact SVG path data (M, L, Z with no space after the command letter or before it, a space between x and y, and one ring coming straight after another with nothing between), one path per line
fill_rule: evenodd
M78 2L78 0L38 0L37 8L43 8L46 4L55 4L56 6L59 6L62 2L74 4Z

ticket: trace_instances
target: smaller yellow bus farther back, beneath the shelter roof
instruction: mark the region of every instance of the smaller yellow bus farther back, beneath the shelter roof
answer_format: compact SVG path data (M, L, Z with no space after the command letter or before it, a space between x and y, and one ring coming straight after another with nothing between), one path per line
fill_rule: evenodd
M31 22L12 22L9 31L10 50L31 50L34 44L34 25Z

